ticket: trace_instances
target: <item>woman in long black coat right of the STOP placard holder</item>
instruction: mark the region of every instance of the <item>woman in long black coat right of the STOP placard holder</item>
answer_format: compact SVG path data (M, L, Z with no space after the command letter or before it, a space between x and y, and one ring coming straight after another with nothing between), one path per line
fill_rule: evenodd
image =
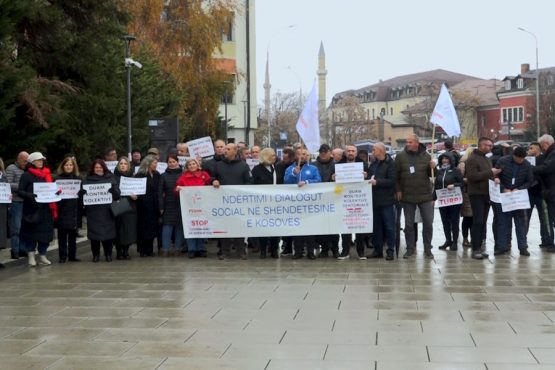
M135 176L146 177L146 194L137 198L137 247L141 257L154 255L154 239L158 236L160 174L156 171L157 165L156 157L147 155Z

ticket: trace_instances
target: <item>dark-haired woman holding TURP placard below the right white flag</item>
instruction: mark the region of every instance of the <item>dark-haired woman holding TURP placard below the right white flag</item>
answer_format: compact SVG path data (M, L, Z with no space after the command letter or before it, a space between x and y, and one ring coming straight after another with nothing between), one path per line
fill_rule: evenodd
M463 176L461 171L455 166L455 157L451 152L445 152L438 158L439 165L436 171L436 181L434 189L448 189L453 191L455 188L461 188L463 185ZM434 192L434 199L437 195ZM443 224L443 233L445 234L445 243L438 249L447 249L456 251L459 241L459 214L461 204L453 204L439 208L441 215L441 223Z

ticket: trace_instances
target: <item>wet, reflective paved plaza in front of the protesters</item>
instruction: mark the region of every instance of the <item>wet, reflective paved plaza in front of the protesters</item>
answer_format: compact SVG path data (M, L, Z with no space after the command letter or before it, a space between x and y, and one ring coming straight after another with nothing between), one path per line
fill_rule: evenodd
M494 258L490 235L483 261L421 244L393 262L218 261L213 243L207 259L93 264L83 244L80 263L18 261L0 271L0 368L555 369L555 255L533 222L530 257Z

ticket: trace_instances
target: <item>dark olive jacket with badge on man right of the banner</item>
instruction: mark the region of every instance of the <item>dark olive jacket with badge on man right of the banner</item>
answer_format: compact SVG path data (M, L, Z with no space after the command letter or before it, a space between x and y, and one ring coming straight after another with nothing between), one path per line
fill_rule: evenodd
M397 154L395 157L395 168L397 169L396 191L403 193L401 202L417 204L433 200L430 181L432 176L431 159L432 157L422 143L420 143L416 152L412 152L405 147L402 152Z

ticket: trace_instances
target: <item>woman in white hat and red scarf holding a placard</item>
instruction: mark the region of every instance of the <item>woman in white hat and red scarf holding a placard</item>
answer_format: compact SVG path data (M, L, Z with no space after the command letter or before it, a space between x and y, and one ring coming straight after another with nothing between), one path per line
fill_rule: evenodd
M29 266L37 265L35 250L38 249L41 265L50 265L46 258L48 245L54 239L54 221L58 218L56 203L38 203L33 184L52 182L50 169L45 166L46 157L40 152L29 155L25 172L19 180L17 194L23 199L23 219L20 238L29 258Z

